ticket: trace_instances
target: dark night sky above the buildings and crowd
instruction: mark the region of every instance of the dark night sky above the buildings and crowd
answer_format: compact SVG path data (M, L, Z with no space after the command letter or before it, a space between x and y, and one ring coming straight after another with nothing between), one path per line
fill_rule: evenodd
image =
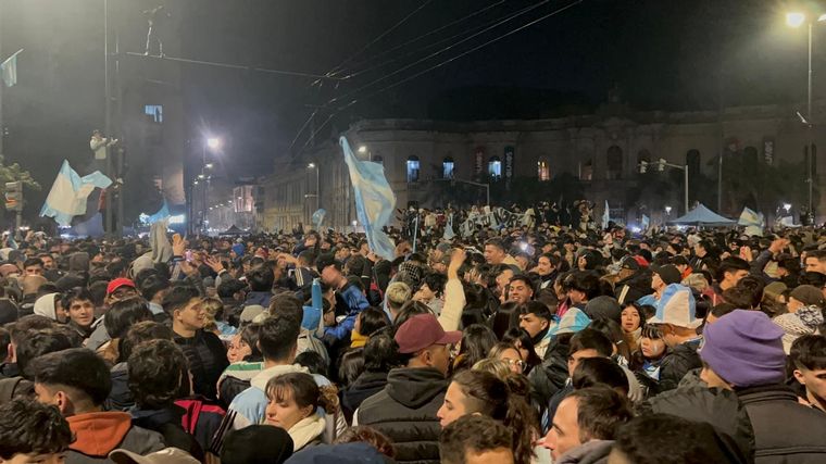
M110 0L112 2L126 0ZM130 0L138 1L138 0ZM103 123L103 0L0 0L0 43L7 57L26 49L20 85L4 92L7 154L48 189L62 158L88 160L90 130ZM149 8L161 0L142 1ZM334 88L310 79L184 65L184 100L192 137L209 130L227 140L235 175L262 174L288 158L297 129L315 106L437 51L420 49L541 0L171 0L182 20L180 54L208 61L324 74L399 20L416 14L348 63L348 71L395 59ZM501 3L439 34L384 54L408 40ZM575 3L553 0L455 46L350 99L335 112L342 130L362 117L542 117L592 111L617 86L636 109L696 110L727 104L803 101L805 30L774 0L585 0L489 47L374 93L414 73ZM810 4L817 2L810 2ZM826 11L826 10L825 10ZM142 51L146 22L126 18L125 50ZM815 96L826 89L826 26L815 28ZM818 73L817 70L824 70ZM722 80L721 80L722 78ZM472 103L467 103L467 102ZM456 104L460 102L461 104ZM488 103L489 102L489 103ZM537 103L539 102L539 103ZM564 110L564 111L563 111ZM320 134L330 135L327 126ZM301 147L305 138L299 138ZM36 160L36 161L35 161ZM45 195L45 193L43 193ZM38 202L39 205L39 202Z

